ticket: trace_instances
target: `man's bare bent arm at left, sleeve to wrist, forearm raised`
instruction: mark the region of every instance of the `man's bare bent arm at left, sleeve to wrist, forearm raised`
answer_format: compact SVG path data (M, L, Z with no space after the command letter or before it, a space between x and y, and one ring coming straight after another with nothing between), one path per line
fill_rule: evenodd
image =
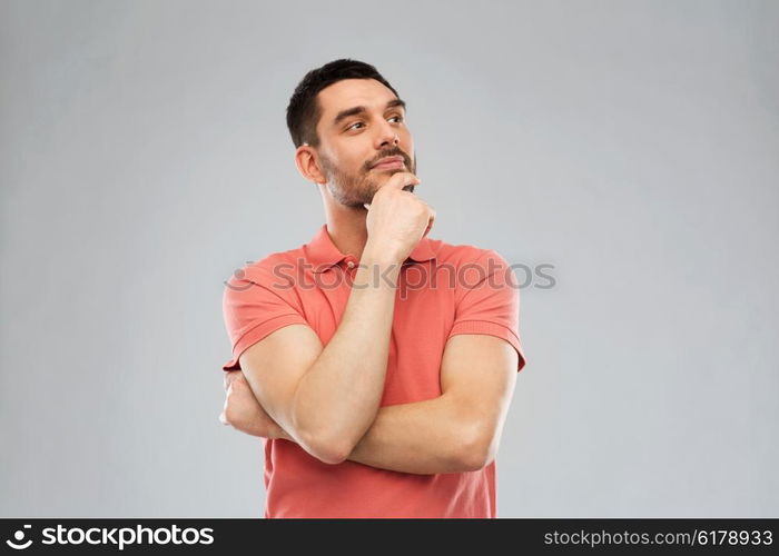
M384 390L400 265L368 240L338 329L323 348L307 325L247 348L240 368L267 414L314 457L345 460L371 427ZM374 268L387 280L372 280ZM386 271L386 274L384 274Z

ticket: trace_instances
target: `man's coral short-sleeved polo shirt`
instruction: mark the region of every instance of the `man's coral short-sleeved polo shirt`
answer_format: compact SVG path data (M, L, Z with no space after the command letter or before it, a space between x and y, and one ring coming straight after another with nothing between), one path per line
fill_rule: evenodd
M227 281L223 309L233 358L284 326L305 324L325 346L335 334L359 261L323 225L297 249L247 264ZM441 396L446 340L489 334L519 353L520 296L494 250L423 238L397 282L382 406ZM417 475L354 461L324 464L296 443L265 443L265 517L495 517L495 463L467 473Z

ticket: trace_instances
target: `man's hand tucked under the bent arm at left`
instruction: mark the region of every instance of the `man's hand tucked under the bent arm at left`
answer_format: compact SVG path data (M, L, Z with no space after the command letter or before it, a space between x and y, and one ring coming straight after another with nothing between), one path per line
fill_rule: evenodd
M227 391L225 408L219 415L219 421L223 425L230 425L236 430L252 436L292 440L292 437L259 405L243 371L225 373L225 390Z

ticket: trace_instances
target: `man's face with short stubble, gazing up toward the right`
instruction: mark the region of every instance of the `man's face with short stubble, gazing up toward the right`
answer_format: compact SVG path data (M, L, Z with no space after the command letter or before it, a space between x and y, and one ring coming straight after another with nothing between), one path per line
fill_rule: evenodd
M318 100L319 168L337 202L362 208L393 173L416 173L405 108L393 106L398 99L392 90L375 79L344 79L319 91ZM365 110L343 116L356 107ZM379 159L393 156L403 158L402 168L373 168ZM407 190L414 191L414 186Z

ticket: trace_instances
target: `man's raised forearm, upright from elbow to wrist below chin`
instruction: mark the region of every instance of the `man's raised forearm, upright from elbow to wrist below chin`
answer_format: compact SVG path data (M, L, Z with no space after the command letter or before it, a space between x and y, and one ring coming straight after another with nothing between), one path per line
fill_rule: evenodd
M400 265L368 241L338 329L295 393L296 429L313 441L345 447L344 457L371 426L382 399L398 272Z

